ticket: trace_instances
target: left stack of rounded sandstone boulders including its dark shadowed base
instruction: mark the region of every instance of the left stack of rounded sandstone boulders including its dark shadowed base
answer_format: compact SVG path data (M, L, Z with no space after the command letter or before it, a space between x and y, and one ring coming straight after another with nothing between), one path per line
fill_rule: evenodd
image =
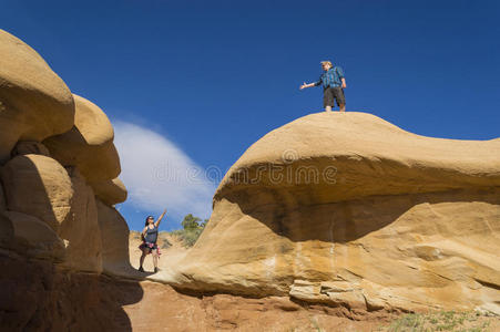
M102 273L129 272L129 228L95 196L114 205L126 189L111 123L75 98L76 114L43 59L0 30L1 331L130 331L122 305L142 295Z

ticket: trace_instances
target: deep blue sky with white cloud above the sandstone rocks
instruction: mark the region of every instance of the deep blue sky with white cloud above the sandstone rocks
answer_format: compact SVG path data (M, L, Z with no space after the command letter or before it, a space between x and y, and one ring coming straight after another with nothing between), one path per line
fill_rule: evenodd
M161 206L165 230L208 217L216 183L152 181L151 169L226 170L273 128L320 111L322 90L298 86L322 60L344 68L347 111L427 136L499 137L499 21L498 1L0 3L1 29L115 125L132 189L119 208L133 229ZM149 145L139 155L131 133Z

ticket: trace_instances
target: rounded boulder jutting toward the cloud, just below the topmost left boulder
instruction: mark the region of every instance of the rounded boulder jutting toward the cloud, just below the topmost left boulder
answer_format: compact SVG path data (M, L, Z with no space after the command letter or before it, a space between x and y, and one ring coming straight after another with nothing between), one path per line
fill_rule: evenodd
M88 183L119 176L120 157L108 116L92 102L74 95L75 115L71 131L43 142L63 166L76 166Z

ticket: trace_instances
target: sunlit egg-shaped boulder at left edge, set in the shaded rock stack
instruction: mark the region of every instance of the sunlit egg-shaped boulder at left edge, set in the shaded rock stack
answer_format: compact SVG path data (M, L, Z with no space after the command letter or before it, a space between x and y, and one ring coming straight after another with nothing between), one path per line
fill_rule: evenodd
M19 155L1 169L7 209L44 221L54 231L70 212L73 188L68 172L41 155Z

